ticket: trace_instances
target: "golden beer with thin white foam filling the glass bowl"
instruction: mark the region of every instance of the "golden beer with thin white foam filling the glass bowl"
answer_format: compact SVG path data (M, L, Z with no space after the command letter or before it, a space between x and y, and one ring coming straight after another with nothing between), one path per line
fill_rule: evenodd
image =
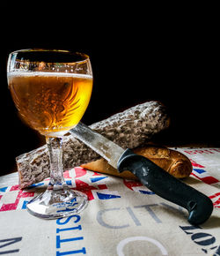
M10 72L8 85L20 116L46 136L60 136L84 115L92 76L64 72Z

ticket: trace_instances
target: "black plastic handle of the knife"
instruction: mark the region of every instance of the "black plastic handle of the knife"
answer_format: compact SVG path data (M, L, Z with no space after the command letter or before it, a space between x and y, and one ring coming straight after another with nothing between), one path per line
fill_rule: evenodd
M209 197L173 177L148 158L134 154L130 149L121 155L118 170L131 171L150 191L186 208L189 213L188 222L193 225L207 221L212 213L213 204Z

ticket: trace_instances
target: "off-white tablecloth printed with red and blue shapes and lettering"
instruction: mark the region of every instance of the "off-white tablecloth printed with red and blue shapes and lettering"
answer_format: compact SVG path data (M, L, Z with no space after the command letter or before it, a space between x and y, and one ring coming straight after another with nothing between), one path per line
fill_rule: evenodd
M0 255L220 255L220 148L175 148L191 160L183 182L205 193L214 205L200 226L187 211L141 183L73 168L67 184L85 192L88 207L79 215L42 220L26 203L46 189L48 179L26 190L18 174L0 177Z

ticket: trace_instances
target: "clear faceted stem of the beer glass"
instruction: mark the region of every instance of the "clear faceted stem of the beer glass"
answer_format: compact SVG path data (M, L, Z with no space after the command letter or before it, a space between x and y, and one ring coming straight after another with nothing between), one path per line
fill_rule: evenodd
M50 162L48 190L59 191L66 186L62 174L62 138L46 137Z

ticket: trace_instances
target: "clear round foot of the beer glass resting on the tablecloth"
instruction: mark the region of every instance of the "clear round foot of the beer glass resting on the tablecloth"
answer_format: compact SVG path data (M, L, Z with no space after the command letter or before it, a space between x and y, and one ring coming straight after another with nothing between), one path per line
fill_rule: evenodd
M34 216L43 219L57 219L77 215L88 204L83 192L64 188L61 191L47 190L31 200L26 208Z

